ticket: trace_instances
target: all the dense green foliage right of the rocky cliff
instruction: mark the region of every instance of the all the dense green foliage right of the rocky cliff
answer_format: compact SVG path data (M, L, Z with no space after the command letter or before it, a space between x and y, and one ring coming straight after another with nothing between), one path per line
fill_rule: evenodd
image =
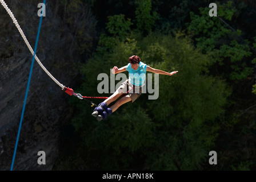
M97 76L110 77L131 55L179 72L159 75L157 100L144 93L101 122L87 102L71 98L73 137L63 139L70 147L55 169L256 169L256 3L219 1L219 16L210 17L208 2L90 1L99 41L81 61L80 93L110 96L97 92ZM217 165L208 162L212 150Z

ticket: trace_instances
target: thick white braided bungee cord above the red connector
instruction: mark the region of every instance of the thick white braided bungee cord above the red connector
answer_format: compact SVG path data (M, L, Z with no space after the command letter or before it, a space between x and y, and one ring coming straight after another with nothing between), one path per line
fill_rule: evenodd
M24 35L24 33L23 33L21 27L19 27L19 24L18 24L17 20L14 18L13 13L12 13L11 10L9 9L9 7L7 7L5 1L3 1L3 0L0 0L0 1L1 1L2 6L6 9L7 13L10 15L11 19L13 19L13 23L14 23L15 26L18 28L19 34L21 34L21 36L22 36L23 40L25 41L27 47L29 48L29 50L30 50L30 52L32 53L32 55L34 56L34 51L33 51L33 49L31 48L29 42L27 41L27 38L26 38L26 36ZM64 85L62 85L58 80L56 80L56 79L51 75L51 73L50 73L49 71L47 71L47 69L43 66L43 64L41 63L41 61L38 59L37 55L35 55L35 60L37 60L37 63L40 65L40 67L47 73L47 75L48 75L49 77L51 77L51 79L52 79L53 81L55 81L56 84L58 84L62 89L65 88Z

